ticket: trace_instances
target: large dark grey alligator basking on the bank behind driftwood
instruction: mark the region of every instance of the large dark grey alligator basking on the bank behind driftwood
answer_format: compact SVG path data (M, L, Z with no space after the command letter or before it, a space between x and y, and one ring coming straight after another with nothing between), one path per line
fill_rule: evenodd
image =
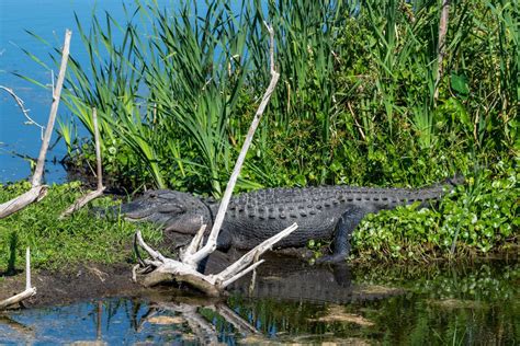
M318 186L239 194L229 203L217 249L249 250L296 222L298 229L276 247L304 247L309 240L332 240L332 254L320 262L344 261L352 232L365 215L412 203L428 206L457 183L457 178L448 180L419 189ZM166 232L195 234L203 223L211 229L218 205L189 193L158 189L118 208L127 220L156 222Z

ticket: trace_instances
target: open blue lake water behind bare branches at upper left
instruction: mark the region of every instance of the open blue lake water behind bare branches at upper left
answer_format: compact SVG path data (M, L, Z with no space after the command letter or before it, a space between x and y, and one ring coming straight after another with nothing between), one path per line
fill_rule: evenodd
M176 0L159 0L161 5L174 7ZM204 1L199 1L204 7ZM52 94L14 73L32 78L39 83L52 83L52 71L33 61L22 48L37 56L49 68L54 68L48 58L49 47L35 39L25 31L33 32L55 47L63 46L65 30L72 30L71 55L87 61L87 54L79 36L75 36L76 12L84 27L89 27L92 12L104 11L120 22L124 22L123 3L132 9L133 0L1 0L0 1L0 85L12 89L30 109L30 116L38 124L46 126ZM57 74L57 71L55 71ZM58 117L71 122L71 116L61 104ZM26 178L31 174L27 158L37 158L41 146L41 129L25 125L26 119L14 100L0 90L0 183ZM55 125L57 129L58 125ZM84 134L79 129L79 135ZM53 134L52 143L57 139ZM48 153L45 173L47 183L63 182L66 173L59 161L66 154L65 145L59 141Z

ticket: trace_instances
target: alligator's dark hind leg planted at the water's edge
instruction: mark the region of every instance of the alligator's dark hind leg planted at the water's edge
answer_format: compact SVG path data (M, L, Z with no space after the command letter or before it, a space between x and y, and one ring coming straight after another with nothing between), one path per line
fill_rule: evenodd
M352 232L360 223L366 212L352 206L339 218L336 223L335 235L332 240L332 254L318 258L317 263L338 263L344 261L350 254L350 239Z

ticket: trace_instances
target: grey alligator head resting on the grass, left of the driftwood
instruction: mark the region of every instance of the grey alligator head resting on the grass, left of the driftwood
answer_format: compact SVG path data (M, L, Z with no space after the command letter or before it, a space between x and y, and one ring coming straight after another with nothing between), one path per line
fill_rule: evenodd
M148 191L139 198L121 206L129 221L162 224L166 231L194 234L203 223L211 228L208 207L197 197L169 189Z

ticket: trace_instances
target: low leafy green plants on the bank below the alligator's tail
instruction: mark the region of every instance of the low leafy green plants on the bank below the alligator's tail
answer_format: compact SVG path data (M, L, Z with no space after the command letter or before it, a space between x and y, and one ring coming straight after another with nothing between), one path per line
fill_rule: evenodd
M502 162L495 170L493 180L490 170L467 176L438 208L410 205L368 216L353 235L354 256L428 262L491 249L518 252L520 173Z

